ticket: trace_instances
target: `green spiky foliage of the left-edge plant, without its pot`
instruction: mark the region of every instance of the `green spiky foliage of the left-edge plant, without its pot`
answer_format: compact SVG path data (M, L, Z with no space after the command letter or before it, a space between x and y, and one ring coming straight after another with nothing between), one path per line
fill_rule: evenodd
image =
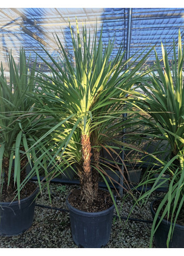
M29 71L29 61L23 49L20 49L20 61L17 65L11 53L8 55L9 79L0 68L0 186L12 195L16 190L20 199L21 185L26 182L26 164L35 161L32 172L38 172L36 147L39 135L45 133L45 119L41 116L39 105L27 95L36 90L35 63ZM28 77L28 74L30 76ZM37 107L37 108L36 108ZM47 120L46 120L47 121ZM48 120L49 121L49 120ZM51 120L50 120L51 121ZM41 146L37 144L37 147ZM43 145L41 146L43 147ZM15 163L13 161L15 160ZM16 197L16 193L15 193Z

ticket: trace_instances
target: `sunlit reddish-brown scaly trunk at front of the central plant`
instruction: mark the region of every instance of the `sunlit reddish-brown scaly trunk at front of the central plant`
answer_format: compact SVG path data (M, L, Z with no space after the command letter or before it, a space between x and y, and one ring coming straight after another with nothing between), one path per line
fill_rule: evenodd
M93 183L91 172L91 143L88 135L81 136L82 144L82 160L83 170L79 173L81 197L87 203L92 203L94 199L93 195Z

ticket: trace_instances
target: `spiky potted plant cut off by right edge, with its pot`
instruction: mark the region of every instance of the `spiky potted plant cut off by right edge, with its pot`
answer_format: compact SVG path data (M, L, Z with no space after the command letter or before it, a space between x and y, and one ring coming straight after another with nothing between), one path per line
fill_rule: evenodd
M163 47L163 66L158 59L156 51L156 63L154 72L147 77L140 91L134 93L133 102L148 118L140 116L141 123L148 129L146 134L160 141L165 141L167 153L165 160L158 159L159 152L152 153L152 157L160 163L159 175L154 178L155 171L151 170L141 185L153 184L150 191L143 194L139 201L148 198L156 188L168 181L168 191L158 203L151 204L151 212L154 217L151 243L155 236L155 245L158 248L183 248L184 244L184 191L183 191L183 142L184 142L184 86L183 86L183 58L184 52L181 45L181 36L178 36L178 51L176 43L173 43L173 59L168 60L167 50ZM162 175L168 175L163 180ZM161 181L162 182L159 182Z

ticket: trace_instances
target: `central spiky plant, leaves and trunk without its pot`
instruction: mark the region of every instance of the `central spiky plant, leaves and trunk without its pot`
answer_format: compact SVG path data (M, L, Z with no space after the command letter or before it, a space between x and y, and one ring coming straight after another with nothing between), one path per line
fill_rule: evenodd
M39 55L50 67L51 76L42 73L43 79L38 81L43 84L43 91L36 97L40 97L40 102L50 115L58 120L55 132L60 134L61 139L56 139L57 151L54 157L59 154L64 161L70 159L70 162L75 162L81 198L90 203L97 196L98 175L103 175L102 166L99 168L100 150L128 122L122 118L122 113L126 111L124 106L119 105L119 98L123 102L126 93L122 93L119 88L129 90L145 74L138 74L138 71L150 52L138 64L135 64L137 59L133 61L126 70L126 64L132 58L124 61L122 45L112 59L113 40L104 46L102 31L99 40L96 30L91 39L90 31L88 34L84 26L80 35L77 19L76 26L76 38L70 26L73 58L65 50L69 48L67 42L64 47L57 35L59 62L44 48L52 64Z

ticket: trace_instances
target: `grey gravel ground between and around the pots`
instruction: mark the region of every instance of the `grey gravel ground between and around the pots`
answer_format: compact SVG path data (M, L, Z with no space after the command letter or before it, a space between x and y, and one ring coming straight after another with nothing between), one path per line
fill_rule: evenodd
M50 184L52 206L66 209L66 196L77 185ZM136 196L138 194L135 193ZM150 202L162 196L161 192L154 192L143 208L135 208L131 218L151 220ZM39 195L36 204L50 205L46 190ZM132 207L132 198L126 199L122 205L117 198L120 216L126 217ZM116 212L114 212L116 214ZM149 248L150 223L113 219L111 238L105 248ZM32 227L22 235L14 237L0 237L0 248L78 248L72 240L69 213L58 210L35 207ZM153 244L154 248L154 244Z

